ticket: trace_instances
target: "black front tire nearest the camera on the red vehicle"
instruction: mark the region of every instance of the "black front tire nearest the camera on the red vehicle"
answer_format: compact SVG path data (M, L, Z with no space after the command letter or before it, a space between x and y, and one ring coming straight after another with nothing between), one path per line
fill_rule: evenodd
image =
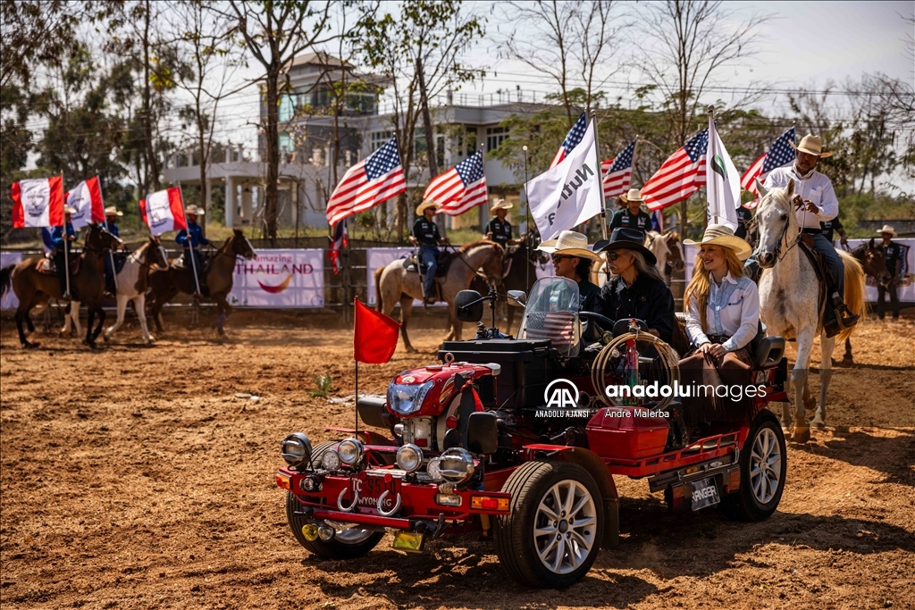
M559 486L560 498L554 495L554 486ZM499 560L511 577L524 586L551 589L562 589L584 578L597 559L605 527L600 489L587 470L561 460L528 462L511 474L502 491L511 494L511 515L496 519L493 537ZM575 515L590 519L593 526L569 526L568 521L563 519L565 512L562 511L557 511L560 519L554 521L558 525L547 520L542 508L552 510L557 503L565 503L570 491L572 508L581 504ZM585 492L589 498L586 498ZM581 522L581 519L578 521ZM534 535L538 526L543 530L555 528L557 537L553 539L552 534ZM565 539L562 537L564 533ZM549 544L552 540L558 540L558 543ZM544 559L554 562L558 570L548 567L541 560L538 549L544 549ZM584 551L584 556L577 561L576 549Z

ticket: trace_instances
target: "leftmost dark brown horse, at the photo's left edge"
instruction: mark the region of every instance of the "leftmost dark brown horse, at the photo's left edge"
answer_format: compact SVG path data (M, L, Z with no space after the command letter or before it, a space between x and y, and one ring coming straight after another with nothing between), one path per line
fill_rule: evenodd
M105 312L102 309L102 294L105 289L104 257L123 241L108 232L101 225L90 225L86 235L85 247L77 255L77 272L70 275L70 295L73 302L72 312L79 309L79 303L85 303L89 309L89 321L86 326L86 343L95 349L95 339L102 332ZM35 325L29 312L38 305L46 305L49 298L63 300L60 282L55 274L38 271L41 258L30 258L17 265L7 265L0 270L0 295L12 286L19 306L16 309L16 329L19 331L19 342L24 348L38 348L38 343L27 340L22 324L26 323L28 332L35 332ZM99 316L99 325L92 330L95 316Z

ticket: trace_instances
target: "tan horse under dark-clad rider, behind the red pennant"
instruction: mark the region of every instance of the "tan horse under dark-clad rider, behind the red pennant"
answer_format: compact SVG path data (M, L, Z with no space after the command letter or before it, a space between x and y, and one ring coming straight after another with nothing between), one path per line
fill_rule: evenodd
M442 299L448 305L448 314L451 316L451 330L443 340L461 340L462 323L454 316L455 297L458 292L467 290L470 281L482 270L490 285L495 285L502 277L502 259L505 251L495 241L474 241L468 243L452 254L450 265L445 277L436 278ZM423 298L423 284L420 274L408 272L404 269L403 259L388 263L375 271L375 294L378 311L385 316L390 316L394 305L401 304L401 334L404 336L404 346L410 353L416 350L410 343L406 334L407 322L413 312L413 300Z

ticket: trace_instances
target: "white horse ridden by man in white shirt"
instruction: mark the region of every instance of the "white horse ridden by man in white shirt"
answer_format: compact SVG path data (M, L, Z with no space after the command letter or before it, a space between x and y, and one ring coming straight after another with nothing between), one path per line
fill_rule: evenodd
M766 190L763 194L756 219L759 224L759 245L757 258L763 268L759 280L759 305L763 322L769 335L780 335L797 339L797 359L791 371L794 386L794 429L795 442L810 440L810 423L806 409L813 409L816 401L807 385L807 369L810 367L813 339L818 333L822 358L820 361L820 401L813 416L813 425L823 428L826 421L826 391L832 378L832 355L835 338L826 337L823 330L823 311L827 306L820 297L820 283L813 264L799 246L801 230L795 215L791 198L794 195L794 181L785 188ZM853 314L864 310L864 272L861 265L847 252L839 251L845 264L845 305ZM854 332L855 326L845 328L839 339L844 340ZM791 428L791 408L782 405L781 423Z

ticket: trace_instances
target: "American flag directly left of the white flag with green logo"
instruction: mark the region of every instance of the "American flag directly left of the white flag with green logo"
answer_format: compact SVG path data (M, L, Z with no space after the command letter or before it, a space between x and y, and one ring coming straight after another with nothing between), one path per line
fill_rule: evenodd
M708 127L695 134L671 158L664 161L644 187L641 196L648 209L663 209L683 201L705 184L705 151Z

